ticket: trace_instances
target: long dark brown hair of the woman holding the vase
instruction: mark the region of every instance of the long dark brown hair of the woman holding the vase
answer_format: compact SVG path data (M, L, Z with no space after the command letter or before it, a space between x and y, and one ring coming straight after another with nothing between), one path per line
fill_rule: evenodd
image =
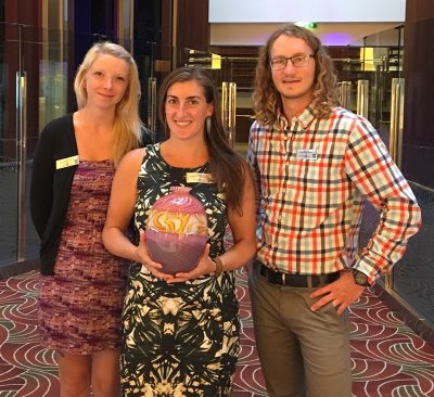
M176 82L196 81L203 88L206 103L212 103L214 113L210 116L209 129L204 125L204 139L209 154L210 171L219 189L225 188L228 208L242 214L242 201L245 176L252 171L244 159L231 148L228 133L221 123L220 102L216 85L209 73L202 67L180 67L173 71L158 90L158 118L167 128L166 99L167 91ZM170 133L170 131L166 131Z

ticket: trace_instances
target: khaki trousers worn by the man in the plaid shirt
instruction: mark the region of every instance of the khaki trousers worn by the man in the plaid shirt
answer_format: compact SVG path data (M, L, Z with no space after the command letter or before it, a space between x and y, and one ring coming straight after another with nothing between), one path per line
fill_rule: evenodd
M315 289L248 280L257 350L269 397L350 397L347 313L332 304L314 312Z

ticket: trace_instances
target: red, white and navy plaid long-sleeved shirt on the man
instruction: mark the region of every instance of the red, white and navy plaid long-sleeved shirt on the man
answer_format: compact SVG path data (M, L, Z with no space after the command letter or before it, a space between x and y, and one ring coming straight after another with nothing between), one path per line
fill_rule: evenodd
M283 272L321 274L354 267L369 281L405 253L420 208L371 124L342 107L317 119L310 107L289 126L252 125L247 161L258 189L258 259ZM381 212L357 253L362 198Z

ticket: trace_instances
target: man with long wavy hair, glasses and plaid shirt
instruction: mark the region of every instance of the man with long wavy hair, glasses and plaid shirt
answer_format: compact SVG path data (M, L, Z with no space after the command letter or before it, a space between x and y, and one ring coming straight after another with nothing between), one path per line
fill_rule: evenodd
M371 124L339 107L332 61L288 25L261 49L247 159L258 190L250 287L270 397L348 397L347 308L420 226L414 195ZM362 198L381 212L358 251Z

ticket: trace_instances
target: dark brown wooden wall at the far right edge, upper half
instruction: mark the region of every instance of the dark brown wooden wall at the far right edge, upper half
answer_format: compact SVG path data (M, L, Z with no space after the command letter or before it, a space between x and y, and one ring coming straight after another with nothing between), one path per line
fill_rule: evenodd
M433 0L407 0L404 40L403 170L409 180L434 188Z

